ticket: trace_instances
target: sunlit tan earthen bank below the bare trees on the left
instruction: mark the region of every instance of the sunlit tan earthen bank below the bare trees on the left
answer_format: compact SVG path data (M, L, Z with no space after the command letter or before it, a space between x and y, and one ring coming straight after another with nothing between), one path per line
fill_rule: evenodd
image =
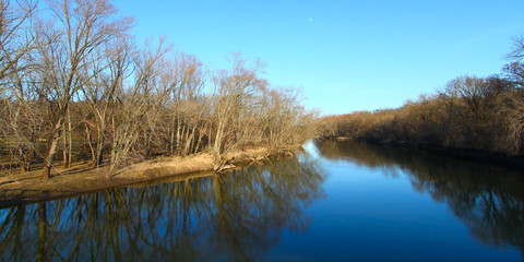
M266 147L236 151L226 155L226 167L237 168L260 162L270 155L286 154L301 148L274 152ZM41 179L41 170L0 177L0 209L39 201L69 198L109 188L155 182L163 178L186 180L215 172L213 155L199 153L186 157L160 156L119 169L108 178L109 167L94 168L88 163L74 163L70 168L56 168L50 179Z

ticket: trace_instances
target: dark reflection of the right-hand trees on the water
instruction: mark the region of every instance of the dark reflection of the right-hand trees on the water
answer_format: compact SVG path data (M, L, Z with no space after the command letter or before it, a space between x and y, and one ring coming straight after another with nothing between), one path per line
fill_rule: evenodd
M407 175L413 188L446 203L485 245L513 246L524 254L524 174L479 163L458 160L417 150L366 142L315 142L331 160L384 168Z

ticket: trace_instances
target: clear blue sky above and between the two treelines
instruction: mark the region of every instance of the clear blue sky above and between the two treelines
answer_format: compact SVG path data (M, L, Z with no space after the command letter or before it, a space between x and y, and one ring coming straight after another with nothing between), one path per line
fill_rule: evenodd
M488 76L524 33L524 0L117 0L141 39L166 36L211 69L241 52L323 115L402 106L456 76Z

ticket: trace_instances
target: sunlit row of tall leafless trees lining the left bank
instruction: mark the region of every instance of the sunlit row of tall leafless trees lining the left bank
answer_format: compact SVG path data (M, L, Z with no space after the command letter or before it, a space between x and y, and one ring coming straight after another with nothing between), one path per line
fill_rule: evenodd
M0 169L285 150L312 135L293 88L239 55L210 71L163 38L139 45L108 0L0 2ZM110 172L109 172L110 174Z

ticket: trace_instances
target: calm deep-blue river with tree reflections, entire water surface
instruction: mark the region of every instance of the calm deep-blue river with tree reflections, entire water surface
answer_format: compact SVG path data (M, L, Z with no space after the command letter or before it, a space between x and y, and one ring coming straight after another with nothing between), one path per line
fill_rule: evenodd
M524 174L361 142L0 210L3 261L523 261Z

